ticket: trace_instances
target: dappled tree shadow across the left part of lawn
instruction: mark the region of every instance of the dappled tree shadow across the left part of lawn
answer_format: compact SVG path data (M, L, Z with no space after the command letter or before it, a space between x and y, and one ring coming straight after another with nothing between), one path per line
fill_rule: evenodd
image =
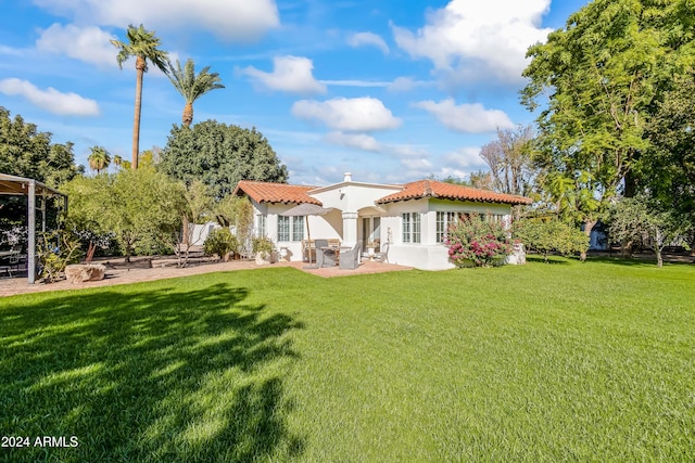
M77 448L0 461L253 461L299 455L281 375L302 324L245 288L103 291L0 310L0 428Z

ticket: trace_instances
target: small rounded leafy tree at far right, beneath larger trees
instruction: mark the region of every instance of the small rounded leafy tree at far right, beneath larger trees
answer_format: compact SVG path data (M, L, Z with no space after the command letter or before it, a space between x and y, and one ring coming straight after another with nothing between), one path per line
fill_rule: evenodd
M612 240L641 242L654 250L658 267L664 266L664 248L688 227L674 209L645 195L617 202L611 207L608 220L608 234Z

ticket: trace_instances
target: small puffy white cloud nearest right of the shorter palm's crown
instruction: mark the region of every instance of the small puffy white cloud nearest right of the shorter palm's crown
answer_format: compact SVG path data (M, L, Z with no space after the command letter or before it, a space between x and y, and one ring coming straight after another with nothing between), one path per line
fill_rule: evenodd
M241 69L241 74L254 79L255 85L299 94L326 93L326 86L314 78L312 60L303 56L276 56L273 72L266 73L253 66Z

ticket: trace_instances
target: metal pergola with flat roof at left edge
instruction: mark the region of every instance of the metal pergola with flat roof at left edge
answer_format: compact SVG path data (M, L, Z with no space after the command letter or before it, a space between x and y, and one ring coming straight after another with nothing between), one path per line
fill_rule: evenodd
M65 213L67 211L67 196L60 191L52 189L38 180L24 177L0 173L0 195L3 196L27 196L27 279L29 284L36 281L36 196L41 198L41 231L46 231L46 198L60 196L63 198Z

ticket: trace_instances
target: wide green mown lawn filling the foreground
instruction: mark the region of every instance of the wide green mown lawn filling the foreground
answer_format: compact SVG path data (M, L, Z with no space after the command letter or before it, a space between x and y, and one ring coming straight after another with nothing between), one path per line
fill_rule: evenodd
M0 461L692 462L695 266L269 268L3 298L0 430L79 443Z

